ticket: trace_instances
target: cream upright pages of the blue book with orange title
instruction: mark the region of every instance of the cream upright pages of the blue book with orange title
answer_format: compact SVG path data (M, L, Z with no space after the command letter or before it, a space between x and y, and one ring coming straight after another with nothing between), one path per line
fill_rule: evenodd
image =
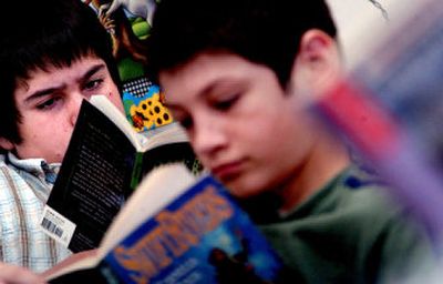
M153 170L114 219L100 245L99 257L106 255L121 240L195 181L196 178L183 164L167 164Z

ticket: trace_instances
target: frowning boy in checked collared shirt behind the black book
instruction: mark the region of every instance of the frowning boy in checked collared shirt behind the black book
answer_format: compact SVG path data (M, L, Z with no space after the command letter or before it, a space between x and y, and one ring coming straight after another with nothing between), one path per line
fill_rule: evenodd
M119 74L109 34L80 0L7 1L1 13L0 261L41 272L71 254L39 220L80 104L105 94L123 112Z

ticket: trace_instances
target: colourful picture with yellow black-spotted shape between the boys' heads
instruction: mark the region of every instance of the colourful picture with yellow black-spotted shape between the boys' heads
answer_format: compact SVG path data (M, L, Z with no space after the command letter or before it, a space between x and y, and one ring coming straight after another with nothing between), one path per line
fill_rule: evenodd
M155 11L155 0L86 0L113 42L113 55L122 80L123 103L127 120L137 132L173 122L162 103L163 94L145 74L146 39Z

